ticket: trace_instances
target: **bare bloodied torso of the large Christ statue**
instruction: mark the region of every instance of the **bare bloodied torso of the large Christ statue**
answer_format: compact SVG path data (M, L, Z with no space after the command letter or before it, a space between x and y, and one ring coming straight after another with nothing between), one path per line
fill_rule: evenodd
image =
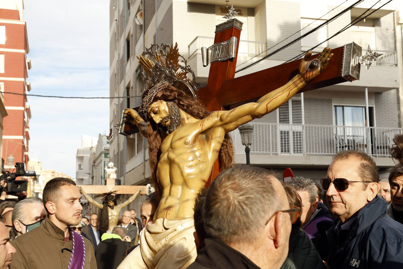
M162 142L157 167L162 199L154 219L193 217L195 196L210 177L225 135L202 122L185 124Z

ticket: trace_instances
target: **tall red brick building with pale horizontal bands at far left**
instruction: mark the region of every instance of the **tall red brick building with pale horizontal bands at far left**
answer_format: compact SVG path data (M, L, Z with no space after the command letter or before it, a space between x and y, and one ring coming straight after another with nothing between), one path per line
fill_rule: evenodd
M31 61L27 59L29 46L27 25L22 20L23 3L22 0L10 2L17 4L0 4L0 87L2 92L27 94L31 90L26 81ZM7 157L12 155L15 163L25 163L27 169L31 118L27 97L5 93L4 106L8 116L3 120L2 158L6 166Z

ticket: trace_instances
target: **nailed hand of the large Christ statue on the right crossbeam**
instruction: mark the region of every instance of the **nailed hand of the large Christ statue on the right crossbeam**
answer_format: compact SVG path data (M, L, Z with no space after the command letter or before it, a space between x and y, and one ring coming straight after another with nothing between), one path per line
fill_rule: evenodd
M314 79L326 69L330 58L333 56L333 53L330 53L331 51L331 48L324 48L319 56L313 60L309 60L312 52L305 54L299 65L299 75L301 75L306 83Z

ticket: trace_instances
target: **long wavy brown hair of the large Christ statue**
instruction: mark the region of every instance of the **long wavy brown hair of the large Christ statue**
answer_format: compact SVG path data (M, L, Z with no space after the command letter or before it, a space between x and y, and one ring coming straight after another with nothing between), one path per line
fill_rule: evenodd
M143 96L147 94L147 90ZM157 92L152 102L164 100L165 102L174 102L177 106L194 117L195 119L203 119L210 113L207 108L200 102L199 99L193 98L186 92L179 90L171 85L163 88ZM148 152L150 154L150 169L152 174L152 181L156 188L156 196L158 201L161 199L162 190L157 181L157 164L161 155L162 137L158 127L154 121L147 121L148 129ZM225 170L234 162L234 148L231 137L228 133L225 134L224 141L222 142L220 152L218 154L218 161L220 163L220 171Z

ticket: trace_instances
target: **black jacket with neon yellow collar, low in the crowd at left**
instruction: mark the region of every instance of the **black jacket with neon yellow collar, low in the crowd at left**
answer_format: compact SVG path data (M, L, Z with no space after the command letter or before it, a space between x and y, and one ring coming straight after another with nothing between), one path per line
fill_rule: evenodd
M95 249L98 269L116 269L122 262L122 256L129 242L123 242L116 234L103 234L102 241Z

